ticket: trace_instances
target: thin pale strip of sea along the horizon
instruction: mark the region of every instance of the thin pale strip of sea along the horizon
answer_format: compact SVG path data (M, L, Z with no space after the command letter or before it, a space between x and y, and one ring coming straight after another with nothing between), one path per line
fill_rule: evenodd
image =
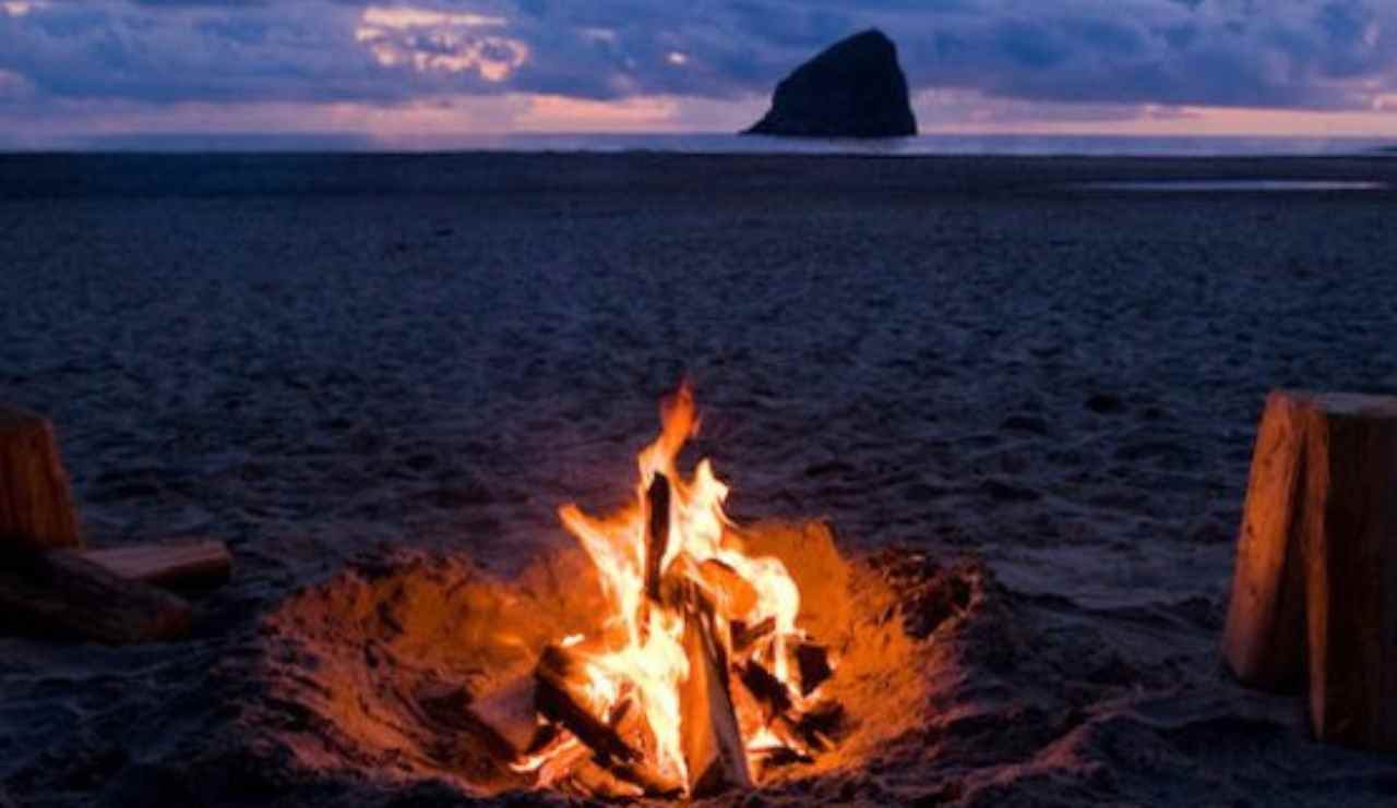
M376 138L359 134L144 133L3 142L0 154L802 154L873 156L1372 156L1397 147L1380 137L922 134L826 140L735 133L514 133Z

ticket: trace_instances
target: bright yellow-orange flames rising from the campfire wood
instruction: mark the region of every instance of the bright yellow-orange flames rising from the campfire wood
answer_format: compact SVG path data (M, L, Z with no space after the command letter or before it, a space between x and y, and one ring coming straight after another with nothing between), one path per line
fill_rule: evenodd
M640 479L636 505L605 519L584 514L569 504L559 509L566 529L577 537L597 567L602 593L609 606L597 636L567 638L573 652L585 660L584 692L597 715L610 716L624 699L634 699L654 734L654 765L665 779L687 783L682 749L680 687L689 677L685 653L685 615L655 603L647 593L648 491L657 474L669 481L668 543L659 561L662 576L676 575L697 586L718 604L717 615L728 643L731 621L774 625L771 668L792 696L799 687L791 681L787 643L799 638L795 620L800 593L785 565L777 558L753 558L731 537L731 522L722 505L728 486L704 459L685 479L676 461L685 444L697 434L698 417L692 388L685 384L661 402L662 430L638 458ZM705 562L718 562L750 586L754 596L733 596L703 574ZM746 586L742 588L746 592ZM726 649L731 653L731 648ZM749 752L770 749L780 741L767 730L745 738Z

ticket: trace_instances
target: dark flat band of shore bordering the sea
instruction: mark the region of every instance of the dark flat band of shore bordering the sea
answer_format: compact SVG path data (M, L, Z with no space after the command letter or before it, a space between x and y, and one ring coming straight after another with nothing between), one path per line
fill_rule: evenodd
M841 194L1071 198L1113 181L1368 181L1386 197L1391 156L883 156L629 154L0 154L0 200ZM1091 194L1141 191L1090 188ZM1268 195L1312 191L1259 191Z

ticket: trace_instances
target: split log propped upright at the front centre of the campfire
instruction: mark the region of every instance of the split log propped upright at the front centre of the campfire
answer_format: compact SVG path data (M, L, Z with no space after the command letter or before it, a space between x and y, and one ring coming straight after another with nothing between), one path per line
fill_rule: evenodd
M694 599L685 624L689 677L680 685L680 747L689 768L689 793L752 787L752 772L728 692L728 660L715 636L711 607Z

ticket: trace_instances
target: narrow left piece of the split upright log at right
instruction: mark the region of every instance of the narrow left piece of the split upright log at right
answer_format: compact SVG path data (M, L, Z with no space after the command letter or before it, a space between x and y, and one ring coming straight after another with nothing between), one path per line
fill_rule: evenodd
M1305 399L1271 394L1252 456L1222 649L1243 684L1284 691L1305 674L1301 536L1306 507Z

